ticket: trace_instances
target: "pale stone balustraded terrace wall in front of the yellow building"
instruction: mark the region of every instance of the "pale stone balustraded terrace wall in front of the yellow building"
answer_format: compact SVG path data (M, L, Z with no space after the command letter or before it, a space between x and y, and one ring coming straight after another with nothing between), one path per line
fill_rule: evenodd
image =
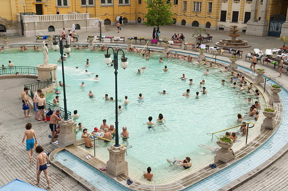
M21 24L20 15L18 22ZM43 36L43 35L61 35L63 28L68 34L68 30L72 29L72 24L79 24L80 29L77 32L95 32L98 31L98 22L103 21L99 18L89 18L89 13L81 14L60 14L60 15L22 15L24 25L24 36ZM55 31L48 31L48 27L53 26ZM102 29L105 30L104 21ZM21 35L21 30L19 31Z

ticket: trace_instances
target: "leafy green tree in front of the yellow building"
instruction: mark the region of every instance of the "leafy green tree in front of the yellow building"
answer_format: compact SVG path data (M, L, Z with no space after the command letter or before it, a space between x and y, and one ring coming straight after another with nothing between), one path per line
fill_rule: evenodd
M143 23L146 26L157 26L157 32L159 32L159 26L172 25L174 17L170 9L173 3L167 2L166 0L146 0L148 10L144 17L147 21ZM158 39L158 35L155 36L155 39Z

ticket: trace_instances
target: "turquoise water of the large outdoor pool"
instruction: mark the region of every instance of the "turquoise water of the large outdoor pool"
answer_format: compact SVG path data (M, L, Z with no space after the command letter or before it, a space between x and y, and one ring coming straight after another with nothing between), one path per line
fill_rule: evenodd
M0 54L1 63L11 60L16 66L36 66L43 62L42 52L28 50L18 54ZM49 62L58 64L58 79L62 81L61 63L57 60L59 52L49 50ZM126 52L125 52L126 53ZM126 145L133 147L128 149L128 162L137 161L139 168L159 169L168 164L166 158L183 158L190 156L193 163L213 159L214 153L209 150L199 148L198 144L217 147L215 142L211 143L211 137L206 133L216 132L225 128L238 125L237 114L242 114L246 122L253 121L249 115L250 104L240 102L247 100L258 100L265 106L263 98L257 99L252 93L237 93L229 82L229 73L220 73L219 69L209 68L211 75L204 76L206 66L198 68L199 65L188 63L183 60L163 59L163 63L158 60L162 54L153 54L149 60L139 57L138 54L127 52L129 67L125 70L118 70L118 105L123 105L124 96L127 95L130 103L122 106L119 114L119 131L122 126L127 126L129 140ZM90 67L85 67L86 59L89 59ZM103 62L103 52L93 52L92 50L72 49L71 56L64 62L65 81L67 84L67 107L73 113L78 110L80 117L74 119L76 123L81 122L92 132L94 127L100 127L102 120L106 119L107 124L115 122L115 102L105 102L102 98L107 93L109 97L115 99L115 76L113 67L107 67ZM5 64L6 65L6 64ZM167 65L169 71L162 69ZM75 69L75 67L79 69ZM138 68L147 67L144 73L137 74ZM86 74L85 70L88 69ZM185 73L185 77L192 78L195 85L189 85L189 80L182 81L178 78ZM95 75L99 75L101 81L94 81ZM201 91L200 81L205 80L207 94L196 99L196 91ZM221 80L225 79L225 85L221 85ZM85 81L85 87L80 87L81 81ZM237 83L238 85L238 83ZM59 87L59 86L58 86ZM182 93L190 89L190 97L182 96ZM253 88L255 90L255 88ZM59 87L62 92L62 87ZM95 98L88 98L89 91L95 94ZM160 95L158 91L166 90L167 95ZM144 102L138 102L139 93L144 96ZM63 94L60 94L63 99ZM52 102L55 94L46 94L46 99ZM63 101L60 100L63 107ZM164 132L156 126L156 133L148 132L147 126L143 125L148 121L148 117L153 117L156 122L158 114L162 113L166 119L166 126L170 130ZM219 135L218 135L219 136ZM81 133L77 134L77 138ZM240 137L240 139L242 139ZM122 143L122 140L120 140ZM237 143L236 143L237 144ZM107 153L107 148L100 149Z

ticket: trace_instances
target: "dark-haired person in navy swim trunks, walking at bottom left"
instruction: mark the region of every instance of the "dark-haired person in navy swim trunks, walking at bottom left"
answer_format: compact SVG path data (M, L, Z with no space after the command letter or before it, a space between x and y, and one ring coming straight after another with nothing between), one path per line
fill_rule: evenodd
M47 184L48 184L48 188L51 188L50 186L50 178L48 176L48 169L47 169L47 165L49 164L49 159L46 153L42 153L43 152L43 147L41 146L37 146L36 147L36 153L38 153L36 160L37 160L37 166L36 166L36 172L37 172L37 182L34 182L34 184L40 184L40 174L42 171L44 171L44 175L46 177L47 180ZM47 160L47 163L46 163Z

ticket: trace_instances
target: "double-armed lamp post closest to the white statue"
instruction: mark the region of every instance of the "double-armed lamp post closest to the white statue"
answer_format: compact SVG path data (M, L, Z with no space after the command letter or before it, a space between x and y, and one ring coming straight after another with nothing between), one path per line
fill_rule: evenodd
M64 93L64 121L68 121L68 113L67 113L67 99L66 99L66 91L65 91L65 76L64 76L64 64L63 64L63 50L65 53L69 54L71 52L71 48L67 43L67 39L65 37L60 38L58 35L55 36L52 49L57 51L59 49L58 42L56 42L56 38L59 39L60 44L60 54L61 54L61 62L62 62L62 77L63 77L63 93ZM63 39L66 41L66 45L63 48Z

